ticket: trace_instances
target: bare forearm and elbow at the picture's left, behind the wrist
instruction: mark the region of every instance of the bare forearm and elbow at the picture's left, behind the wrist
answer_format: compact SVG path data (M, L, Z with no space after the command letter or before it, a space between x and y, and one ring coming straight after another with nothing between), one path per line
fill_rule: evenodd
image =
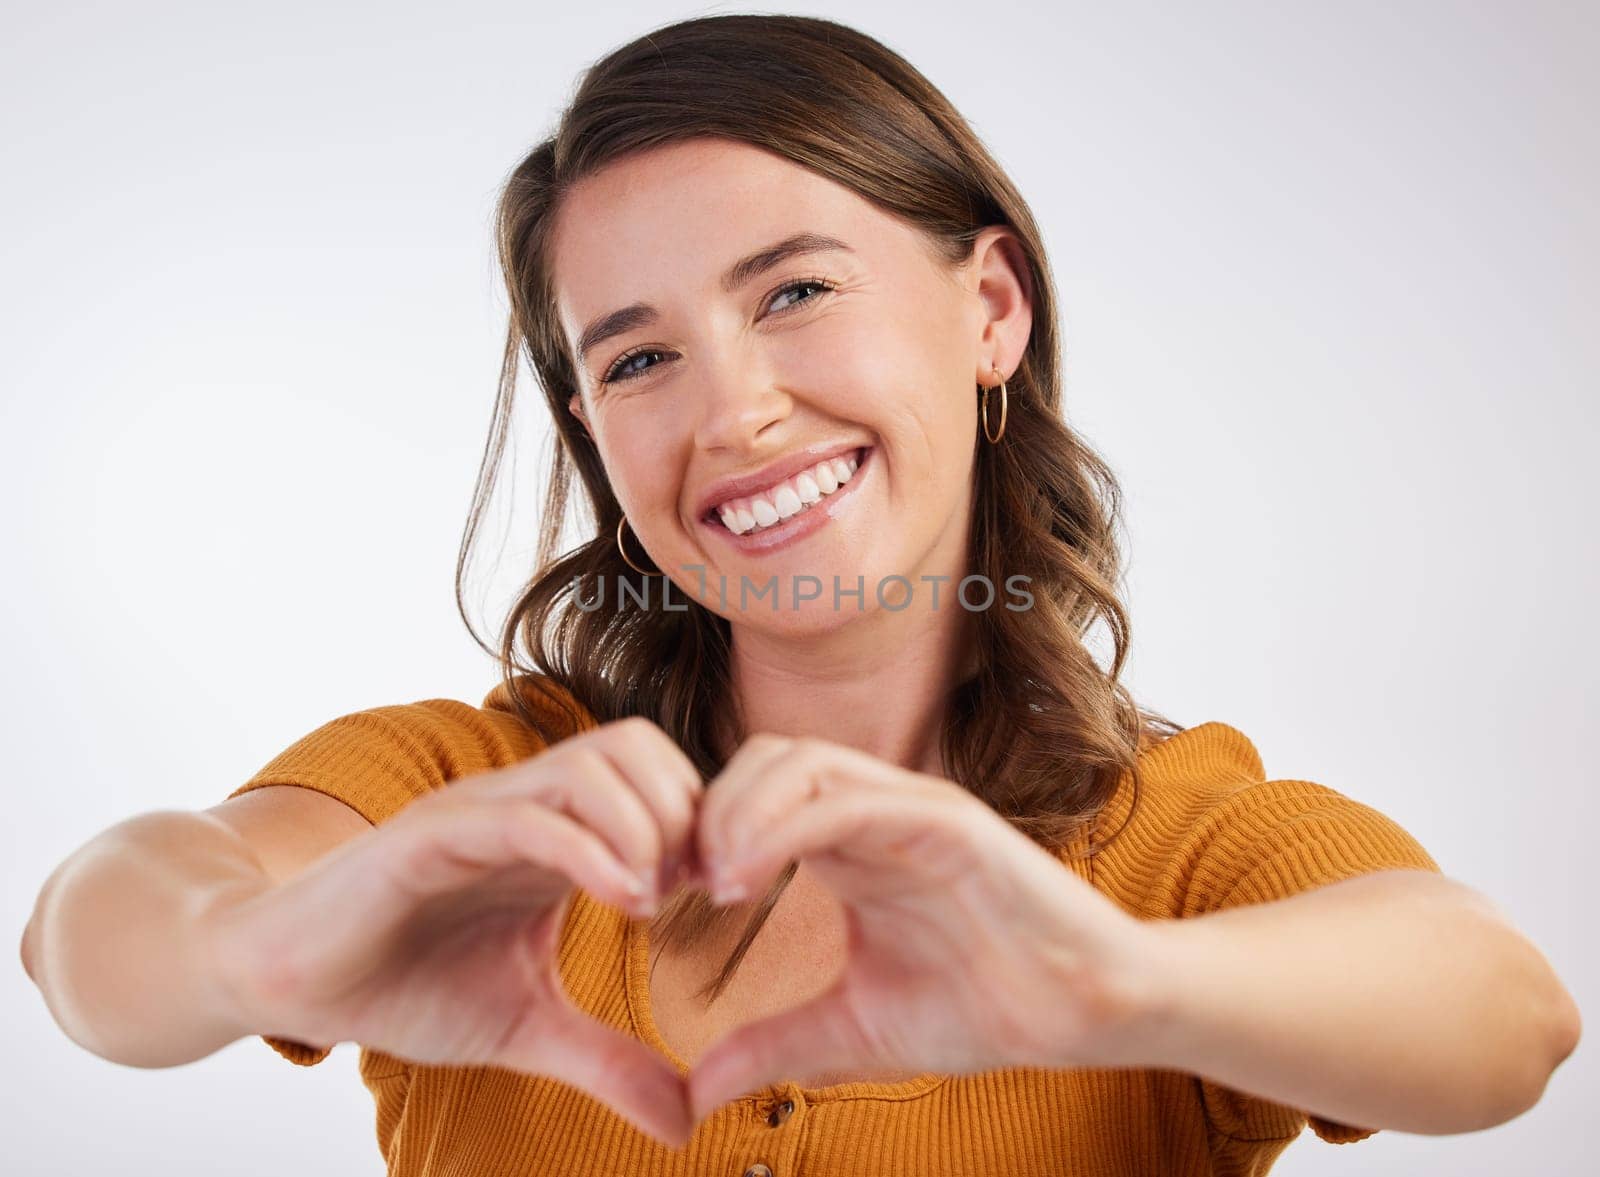
M248 844L198 812L139 814L45 881L22 958L75 1043L130 1067L203 1059L250 1033L210 958L219 905L270 886Z

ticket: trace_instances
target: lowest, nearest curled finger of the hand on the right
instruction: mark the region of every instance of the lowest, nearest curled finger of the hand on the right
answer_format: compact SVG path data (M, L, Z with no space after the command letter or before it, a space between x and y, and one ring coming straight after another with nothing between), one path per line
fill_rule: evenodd
M766 828L744 857L712 864L712 878L736 892L757 894L792 859L835 854L875 875L906 875L934 860L933 846L946 843L944 857L962 852L962 814L944 798L901 792L824 793L789 811ZM949 870L950 862L939 862ZM880 886L880 894L882 886Z

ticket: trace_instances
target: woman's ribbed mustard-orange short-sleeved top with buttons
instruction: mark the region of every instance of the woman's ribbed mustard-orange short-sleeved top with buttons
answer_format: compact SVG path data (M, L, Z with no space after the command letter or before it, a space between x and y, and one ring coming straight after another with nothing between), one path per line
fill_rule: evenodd
M587 712L581 726L594 726ZM301 785L378 824L432 788L542 747L496 684L480 707L427 699L339 716L285 748L234 795ZM1254 745L1226 723L1202 723L1147 750L1141 776L1128 828L1090 862L1064 865L1142 920L1269 902L1374 870L1440 870L1376 809L1309 780L1269 780ZM1104 832L1126 819L1130 780L1125 774ZM560 937L566 991L688 1075L651 1019L648 947L646 921L574 888ZM328 1047L264 1041L301 1065L328 1055ZM358 1070L376 1102L378 1147L395 1177L739 1177L763 1174L758 1166L773 1177L1242 1177L1267 1172L1307 1123L1334 1143L1374 1131L1182 1071L1018 1067L901 1083L774 1083L722 1107L685 1148L672 1150L587 1092L546 1076L413 1065L365 1046ZM789 1115L770 1121L786 1100Z

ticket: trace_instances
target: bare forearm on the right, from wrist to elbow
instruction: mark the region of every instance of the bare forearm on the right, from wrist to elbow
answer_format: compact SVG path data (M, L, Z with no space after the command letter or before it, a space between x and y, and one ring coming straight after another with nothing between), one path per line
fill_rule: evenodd
M1358 1127L1469 1132L1538 1102L1571 996L1482 897L1426 872L1154 924L1144 1065Z

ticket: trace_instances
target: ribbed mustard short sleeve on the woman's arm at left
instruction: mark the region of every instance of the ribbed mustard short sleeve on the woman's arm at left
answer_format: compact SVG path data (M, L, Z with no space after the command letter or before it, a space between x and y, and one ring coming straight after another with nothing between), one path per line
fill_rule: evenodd
M523 683L518 689L525 697L531 694ZM560 688L554 696L571 700ZM290 744L229 796L264 785L298 785L326 793L378 825L458 777L526 760L573 729L570 718L541 702L541 696L533 694L530 702L555 724L547 732L552 740L517 718L504 689L493 691L483 707L424 699L350 712ZM592 721L587 712L578 715L586 724ZM261 1038L301 1067L322 1062L333 1049L272 1035Z

